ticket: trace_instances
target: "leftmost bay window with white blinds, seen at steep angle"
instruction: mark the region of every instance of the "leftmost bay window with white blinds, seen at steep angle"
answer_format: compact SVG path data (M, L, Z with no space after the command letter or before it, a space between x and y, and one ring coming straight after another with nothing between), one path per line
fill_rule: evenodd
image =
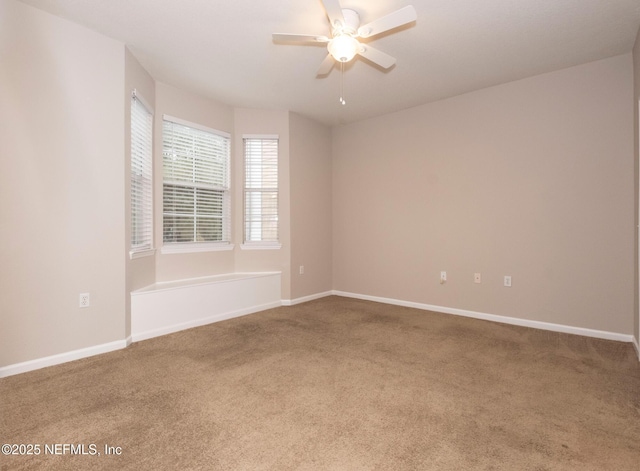
M153 114L131 93L131 248L132 258L153 253Z

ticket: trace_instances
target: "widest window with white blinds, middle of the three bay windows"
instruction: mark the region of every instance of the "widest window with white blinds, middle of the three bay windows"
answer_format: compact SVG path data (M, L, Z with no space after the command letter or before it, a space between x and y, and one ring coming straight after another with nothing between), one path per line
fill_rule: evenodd
M229 135L169 116L164 116L162 130L165 247L232 248Z

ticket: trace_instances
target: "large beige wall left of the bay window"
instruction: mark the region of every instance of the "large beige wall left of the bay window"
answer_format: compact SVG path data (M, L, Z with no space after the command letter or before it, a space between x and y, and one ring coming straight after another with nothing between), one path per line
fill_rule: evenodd
M0 64L6 366L125 337L124 46L0 0Z

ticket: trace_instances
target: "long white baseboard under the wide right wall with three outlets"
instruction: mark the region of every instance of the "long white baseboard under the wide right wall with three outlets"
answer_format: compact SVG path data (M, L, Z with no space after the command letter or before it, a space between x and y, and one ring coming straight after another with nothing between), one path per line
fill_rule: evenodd
M378 296L368 296L364 294L348 293L344 291L333 291L336 296L345 296L347 298L363 299L367 301L376 301L379 303L393 304L396 306L412 307L425 311L441 312L443 314L453 314L456 316L472 317L474 319L482 319L486 321L500 322L502 324L519 325L522 327L531 327L533 329L549 330L552 332L562 332L566 334L582 335L585 337L594 337L605 340L616 340L619 342L634 342L633 335L619 334L617 332L607 332L604 330L586 329L583 327L574 327L563 324L553 324L550 322L533 321L529 319L519 319L517 317L499 316L496 314L487 314L483 312L467 311L464 309L449 308L444 306L434 306L431 304L415 303L411 301L402 301L398 299L382 298ZM638 348L637 344L636 348Z

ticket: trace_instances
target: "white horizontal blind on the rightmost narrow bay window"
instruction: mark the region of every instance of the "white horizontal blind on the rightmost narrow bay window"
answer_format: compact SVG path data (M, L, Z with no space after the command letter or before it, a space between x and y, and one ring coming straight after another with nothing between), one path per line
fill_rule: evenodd
M243 140L244 241L278 242L278 139Z

